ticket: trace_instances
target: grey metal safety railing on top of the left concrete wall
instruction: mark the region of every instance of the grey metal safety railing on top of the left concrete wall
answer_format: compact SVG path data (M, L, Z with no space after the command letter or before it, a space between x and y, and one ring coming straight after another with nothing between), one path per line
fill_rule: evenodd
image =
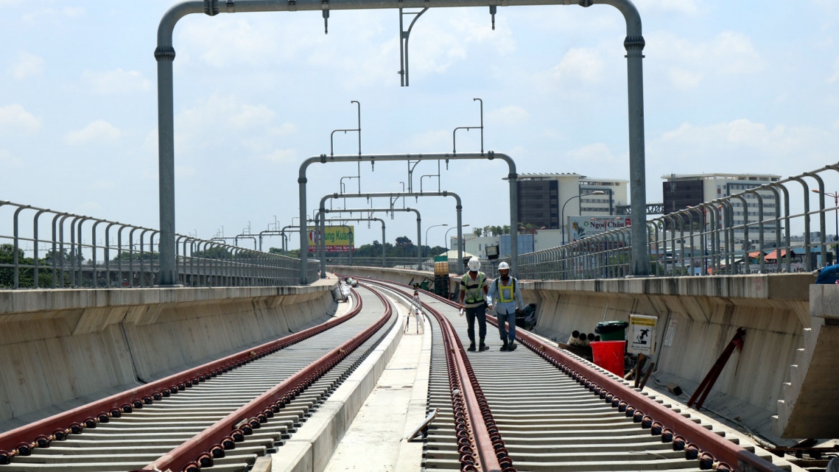
M158 283L156 229L5 201L0 201L0 229L0 288ZM176 247L183 286L300 283L300 260L294 258L181 234ZM315 262L309 265L309 277L317 278Z

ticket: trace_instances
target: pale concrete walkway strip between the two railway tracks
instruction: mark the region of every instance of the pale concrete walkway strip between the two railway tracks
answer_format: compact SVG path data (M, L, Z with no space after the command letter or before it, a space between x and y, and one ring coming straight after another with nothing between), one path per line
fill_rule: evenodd
M420 334L413 317L410 321L409 332L326 464L326 472L421 469L423 443L409 443L406 436L425 418L431 336L423 334L430 334L427 321Z

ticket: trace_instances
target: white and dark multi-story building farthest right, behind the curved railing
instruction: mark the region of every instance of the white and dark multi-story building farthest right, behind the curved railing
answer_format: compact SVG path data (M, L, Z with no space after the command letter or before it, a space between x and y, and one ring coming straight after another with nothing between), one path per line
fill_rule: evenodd
M711 202L722 197L747 191L769 182L779 181L781 176L773 174L690 174L662 176L662 192L664 194L664 213L676 212L685 207L694 207L700 203ZM763 199L763 219L772 219L778 214L778 204L773 191L759 190L758 195ZM739 199L732 199L734 226L744 222L757 223L760 211L758 197L754 194L743 196L747 207ZM720 217L722 218L722 212ZM736 228L734 236L743 237L743 228ZM750 242L758 241L759 234L756 226L749 225ZM774 240L773 231L765 231L763 240Z

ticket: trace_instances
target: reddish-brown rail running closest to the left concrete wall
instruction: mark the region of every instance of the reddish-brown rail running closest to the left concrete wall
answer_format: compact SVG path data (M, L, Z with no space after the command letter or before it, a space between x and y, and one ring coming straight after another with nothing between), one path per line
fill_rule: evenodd
M237 354L228 355L190 370L169 375L164 379L155 380L136 389L123 391L0 434L0 464L8 464L13 457L18 455L28 456L34 448L49 448L52 441L62 441L71 434L83 433L85 429L95 428L98 423L109 422L112 417L122 417L123 413L133 412L134 409L143 408L143 405L151 405L154 401L185 391L199 382L223 375L229 370L237 369L253 360L261 359L268 354L334 328L362 311L361 297L355 298L358 300L357 307L343 317L333 318L298 333L242 350Z

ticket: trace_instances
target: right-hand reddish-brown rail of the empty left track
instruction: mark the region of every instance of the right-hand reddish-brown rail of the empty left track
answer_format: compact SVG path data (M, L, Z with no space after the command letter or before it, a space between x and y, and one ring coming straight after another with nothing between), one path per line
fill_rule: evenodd
M197 472L202 467L212 466L212 451L235 448L235 444L227 443L225 438L228 436L235 438L237 434L247 435L248 432L244 429L244 425L249 425L253 430L257 429L260 424L268 422L269 418L273 417L274 413L279 412L286 403L294 399L295 396L312 385L315 380L318 380L358 346L367 341L368 338L373 336L373 333L376 333L388 322L393 311L384 296L370 287L365 286L364 288L378 296L384 305L384 314L376 323L332 349L305 369L283 380L271 390L249 401L247 405L240 407L221 421L206 428L194 438L173 449L169 454L165 454L152 464L147 465L143 470L171 469L182 472ZM357 298L361 300L360 297ZM243 421L242 418L248 419ZM216 454L221 454L218 457L223 457L223 453Z

